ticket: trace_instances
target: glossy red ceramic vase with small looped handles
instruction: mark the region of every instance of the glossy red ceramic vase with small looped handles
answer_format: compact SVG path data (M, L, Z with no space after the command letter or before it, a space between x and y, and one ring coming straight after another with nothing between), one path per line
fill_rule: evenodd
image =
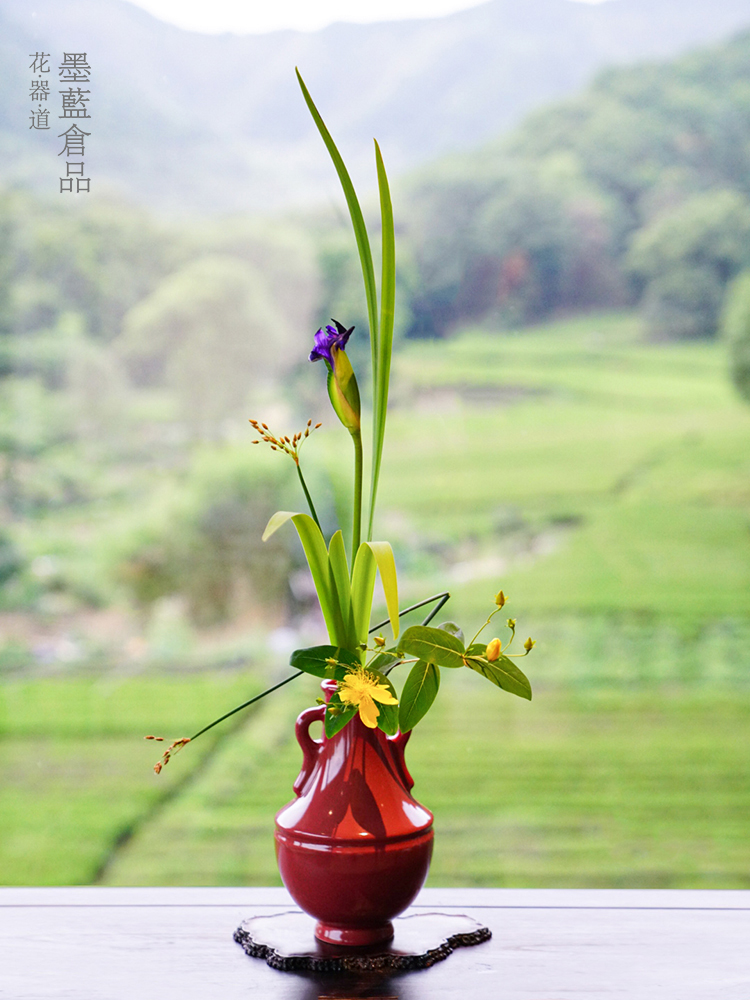
M328 697L336 690L335 681L321 686ZM315 740L309 729L324 711L309 708L297 719L304 758L297 797L276 816L279 871L318 920L319 940L379 944L427 878L433 817L411 796L410 733L389 737L356 716L331 739Z

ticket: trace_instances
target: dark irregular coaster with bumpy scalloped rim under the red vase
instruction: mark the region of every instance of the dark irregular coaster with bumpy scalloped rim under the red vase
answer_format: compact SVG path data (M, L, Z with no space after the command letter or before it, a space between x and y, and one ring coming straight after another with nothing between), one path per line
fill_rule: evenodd
M252 958L281 972L372 972L427 969L456 948L489 941L488 927L460 914L416 913L393 921L393 940L366 949L323 944L299 910L244 920L234 940Z

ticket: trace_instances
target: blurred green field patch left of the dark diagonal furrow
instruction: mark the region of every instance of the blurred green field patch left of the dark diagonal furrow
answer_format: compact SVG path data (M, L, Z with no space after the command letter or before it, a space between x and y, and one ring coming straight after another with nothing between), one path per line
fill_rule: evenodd
M157 779L172 739L258 690L231 675L7 681L0 685L0 884L83 885L154 809L182 791L232 727ZM210 721L210 720L209 720Z

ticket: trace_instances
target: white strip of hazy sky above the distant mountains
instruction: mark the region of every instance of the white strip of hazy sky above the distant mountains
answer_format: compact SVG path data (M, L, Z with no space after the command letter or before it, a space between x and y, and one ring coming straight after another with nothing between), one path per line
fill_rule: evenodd
M315 31L334 21L395 21L441 17L477 0L131 0L150 14L191 31L238 34L295 28ZM519 0L523 3L524 0ZM560 0L567 3L568 0ZM576 0L601 3L603 0Z

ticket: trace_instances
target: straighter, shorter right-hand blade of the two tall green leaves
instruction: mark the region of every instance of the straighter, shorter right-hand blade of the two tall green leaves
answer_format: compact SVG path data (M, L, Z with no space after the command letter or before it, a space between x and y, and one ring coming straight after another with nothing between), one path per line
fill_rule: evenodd
M377 364L373 364L372 412L372 476L370 479L370 517L367 528L368 541L372 538L375 519L375 500L380 479L380 463L385 440L385 421L388 415L388 386L391 378L391 352L393 349L393 317L396 305L396 237L393 227L393 206L388 176L385 172L380 147L375 142L375 161L378 168L380 191L380 217L382 221L383 269L380 283L380 327L377 342Z

